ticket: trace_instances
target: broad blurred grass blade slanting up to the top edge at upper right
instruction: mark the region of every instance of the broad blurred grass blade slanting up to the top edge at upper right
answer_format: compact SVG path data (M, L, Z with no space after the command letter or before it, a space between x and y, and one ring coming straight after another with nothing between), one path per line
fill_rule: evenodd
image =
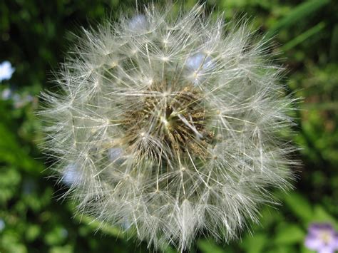
M304 20L306 16L318 11L326 4L329 4L329 0L311 0L299 4L292 11L290 11L287 16L285 16L280 21L277 21L275 26L272 26L272 28L267 31L265 38L271 38L277 33L277 31L297 24L300 20Z

